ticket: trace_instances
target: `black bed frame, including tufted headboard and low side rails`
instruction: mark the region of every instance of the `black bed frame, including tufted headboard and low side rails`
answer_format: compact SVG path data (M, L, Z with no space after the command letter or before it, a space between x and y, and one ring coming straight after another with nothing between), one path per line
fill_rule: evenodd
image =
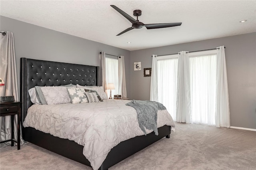
M36 59L20 58L20 100L22 124L28 108L33 104L30 101L28 90L34 86L57 86L67 84L98 85L102 84L101 72L98 66L60 63ZM146 148L164 136L170 138L171 127L164 125L158 128L158 136L151 132L147 136L136 136L120 142L112 148L100 166L100 170L107 170L132 154ZM22 126L22 136L25 141L42 148L91 166L83 155L83 146L68 139L52 136L35 128Z

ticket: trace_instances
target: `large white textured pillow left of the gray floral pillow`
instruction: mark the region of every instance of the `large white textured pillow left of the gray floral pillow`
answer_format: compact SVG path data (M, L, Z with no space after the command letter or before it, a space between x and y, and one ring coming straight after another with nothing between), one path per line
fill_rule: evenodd
M66 87L46 86L41 87L47 105L70 103L70 97Z

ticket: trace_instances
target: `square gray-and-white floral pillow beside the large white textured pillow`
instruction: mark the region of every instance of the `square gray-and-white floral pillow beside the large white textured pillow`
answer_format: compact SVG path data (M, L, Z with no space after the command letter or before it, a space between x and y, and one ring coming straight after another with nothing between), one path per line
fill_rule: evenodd
M71 102L74 103L88 103L83 88L68 88L68 93Z

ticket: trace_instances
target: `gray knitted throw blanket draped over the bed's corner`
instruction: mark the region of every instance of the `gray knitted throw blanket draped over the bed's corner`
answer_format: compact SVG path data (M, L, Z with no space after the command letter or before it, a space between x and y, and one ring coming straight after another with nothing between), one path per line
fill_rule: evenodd
M158 135L157 130L157 111L166 110L166 107L162 103L155 101L139 101L133 100L126 103L127 106L133 107L137 111L138 123L141 130L146 135L146 130L154 130Z

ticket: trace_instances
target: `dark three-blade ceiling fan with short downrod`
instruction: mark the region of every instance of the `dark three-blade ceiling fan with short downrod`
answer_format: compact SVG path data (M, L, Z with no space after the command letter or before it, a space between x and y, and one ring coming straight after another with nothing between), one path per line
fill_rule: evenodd
M121 34L124 34L132 29L138 29L138 28L143 28L146 27L147 29L156 29L156 28L167 28L167 27L175 27L175 26L180 26L182 22L177 22L177 23L160 23L160 24L143 24L142 22L139 22L138 16L141 16L141 10L134 10L133 15L137 16L137 20L126 14L124 11L120 10L114 5L110 5L112 8L117 10L122 16L124 16L127 20L129 20L132 23L132 27L127 28L126 30L120 32L116 36L120 36Z

